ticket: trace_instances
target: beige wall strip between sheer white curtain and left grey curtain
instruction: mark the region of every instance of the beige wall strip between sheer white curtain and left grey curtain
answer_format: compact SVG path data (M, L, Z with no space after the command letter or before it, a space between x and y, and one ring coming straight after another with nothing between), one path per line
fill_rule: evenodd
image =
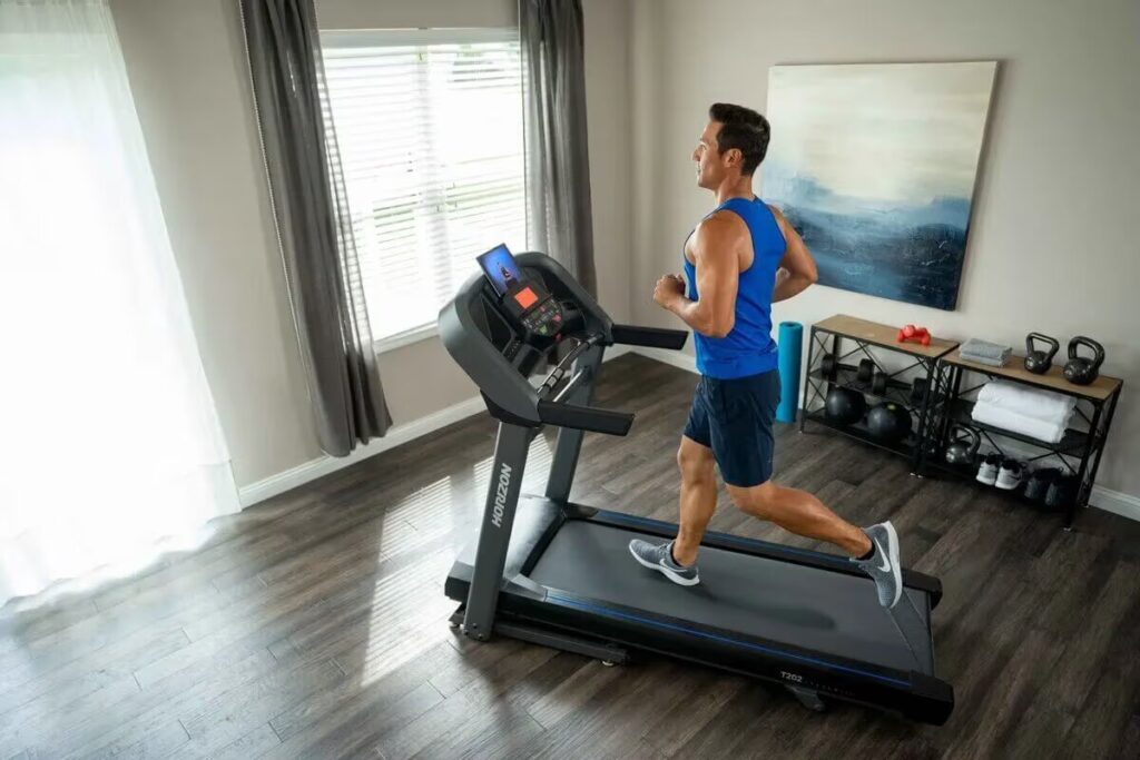
M318 453L230 0L111 3L239 485Z

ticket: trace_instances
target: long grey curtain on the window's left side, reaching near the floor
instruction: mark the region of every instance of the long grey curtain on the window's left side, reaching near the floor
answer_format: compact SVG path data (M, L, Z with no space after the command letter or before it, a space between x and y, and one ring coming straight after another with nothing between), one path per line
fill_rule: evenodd
M392 424L365 309L312 0L241 0L254 108L321 448Z

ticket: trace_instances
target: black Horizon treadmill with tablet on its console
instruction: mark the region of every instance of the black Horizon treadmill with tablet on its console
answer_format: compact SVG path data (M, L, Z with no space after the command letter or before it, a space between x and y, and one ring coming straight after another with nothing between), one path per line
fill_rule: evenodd
M591 406L608 346L681 349L683 330L614 325L553 259L479 258L440 311L448 352L499 420L477 542L448 574L451 624L605 664L653 652L764 679L805 706L829 698L942 725L954 705L935 676L930 614L936 578L903 571L883 610L873 581L846 557L709 532L701 582L682 587L638 565L630 539L671 539L676 525L569 500L585 431L626 435L633 415ZM530 442L560 428L543 495L521 495Z

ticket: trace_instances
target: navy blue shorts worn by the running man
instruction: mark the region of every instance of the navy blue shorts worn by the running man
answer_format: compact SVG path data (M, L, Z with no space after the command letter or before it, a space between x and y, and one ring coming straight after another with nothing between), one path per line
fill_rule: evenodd
M780 373L775 369L734 379L702 375L685 438L712 449L728 485L766 483L772 479L772 422L779 403Z

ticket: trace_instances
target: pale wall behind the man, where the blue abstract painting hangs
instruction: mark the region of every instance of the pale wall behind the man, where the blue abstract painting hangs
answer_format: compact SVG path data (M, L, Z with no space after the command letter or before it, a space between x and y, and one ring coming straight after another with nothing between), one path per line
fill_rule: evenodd
M634 0L635 321L711 206L690 154L710 103L763 111L767 70L796 63L1000 60L958 310L828 287L777 304L805 326L832 313L936 334L1024 342L1090 335L1125 389L1098 483L1140 495L1140 5L1131 0ZM773 131L780 124L773 124ZM758 188L762 182L757 183Z

